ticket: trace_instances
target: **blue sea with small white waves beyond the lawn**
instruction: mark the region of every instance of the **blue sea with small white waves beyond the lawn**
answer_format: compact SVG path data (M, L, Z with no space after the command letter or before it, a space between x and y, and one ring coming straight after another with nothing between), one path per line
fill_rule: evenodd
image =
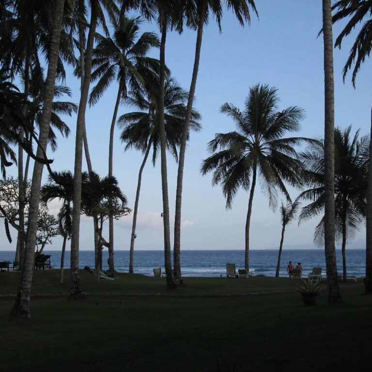
M51 254L53 267L60 267L61 252L47 251ZM13 261L14 251L0 251L0 261ZM342 273L341 251L336 251L337 268L339 275ZM94 252L80 251L80 264L94 267ZM275 276L278 261L277 250L251 250L249 252L249 268L253 275ZM103 252L104 269L107 265L108 252ZM128 272L129 251L115 252L115 269ZM312 267L322 267L325 272L325 254L322 249L283 250L281 254L280 276L287 276L286 267L289 261L294 265L301 262L303 274L307 276ZM184 250L181 252L181 269L185 277L219 277L226 273L226 263L235 263L236 268L244 268L244 250ZM365 275L365 250L350 249L346 251L347 274L361 277ZM65 254L65 267L70 266L70 252ZM153 268L162 267L164 271L164 252L160 250L139 250L134 252L134 271L138 274L153 275Z

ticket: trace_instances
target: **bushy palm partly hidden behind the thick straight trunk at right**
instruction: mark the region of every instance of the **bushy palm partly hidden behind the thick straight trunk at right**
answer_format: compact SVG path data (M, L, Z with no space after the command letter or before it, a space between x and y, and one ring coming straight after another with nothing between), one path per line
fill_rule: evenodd
M336 240L342 245L342 273L346 280L346 243L360 228L365 219L365 173L368 136L358 138L359 131L354 138L350 135L351 126L341 131L335 129L335 227ZM304 182L310 188L303 191L298 199L311 203L302 208L299 221L308 220L324 211L325 207L325 142L318 140L310 148L300 154L304 163ZM324 244L325 217L317 225L314 242Z

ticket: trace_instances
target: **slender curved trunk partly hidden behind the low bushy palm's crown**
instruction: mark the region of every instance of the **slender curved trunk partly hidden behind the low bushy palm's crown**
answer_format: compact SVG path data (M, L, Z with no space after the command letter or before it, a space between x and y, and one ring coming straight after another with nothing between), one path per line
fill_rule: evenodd
M118 115L118 109L120 105L120 99L123 91L124 81L123 79L120 80L118 95L116 97L115 109L112 115L111 127L110 127L110 142L109 142L109 177L112 177L112 158L113 158L113 151L114 151L114 130L115 130L115 123L116 117ZM114 275L115 267L114 267L114 217L112 215L109 216L109 271L111 275Z

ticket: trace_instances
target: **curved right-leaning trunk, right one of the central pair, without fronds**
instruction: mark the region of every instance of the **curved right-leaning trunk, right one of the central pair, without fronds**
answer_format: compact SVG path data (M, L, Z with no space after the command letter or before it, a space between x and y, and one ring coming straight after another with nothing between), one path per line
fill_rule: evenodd
M185 117L185 123L184 123L183 131L182 131L180 154L179 154L179 160L178 160L176 210L175 210L175 217L174 217L174 246L173 246L174 280L177 284L183 283L182 274L181 274L182 184L183 184L183 178L184 178L185 152L186 152L188 128L190 125L191 110L192 110L192 104L194 101L194 94L195 94L195 88L196 88L196 80L198 78L200 50L202 48L205 4L206 4L206 0L203 0L200 5L198 34L196 38L196 47L195 47L194 68L192 71L190 91L189 91L188 100L187 100L186 117Z

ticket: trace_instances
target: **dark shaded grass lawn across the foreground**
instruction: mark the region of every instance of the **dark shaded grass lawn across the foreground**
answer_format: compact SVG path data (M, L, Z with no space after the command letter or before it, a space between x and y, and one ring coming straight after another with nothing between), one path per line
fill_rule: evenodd
M89 294L68 300L68 283L45 271L24 321L8 316L17 277L0 273L3 371L371 371L372 296L360 282L342 286L341 305L324 291L305 307L287 278L186 278L168 291L164 279L82 272Z

